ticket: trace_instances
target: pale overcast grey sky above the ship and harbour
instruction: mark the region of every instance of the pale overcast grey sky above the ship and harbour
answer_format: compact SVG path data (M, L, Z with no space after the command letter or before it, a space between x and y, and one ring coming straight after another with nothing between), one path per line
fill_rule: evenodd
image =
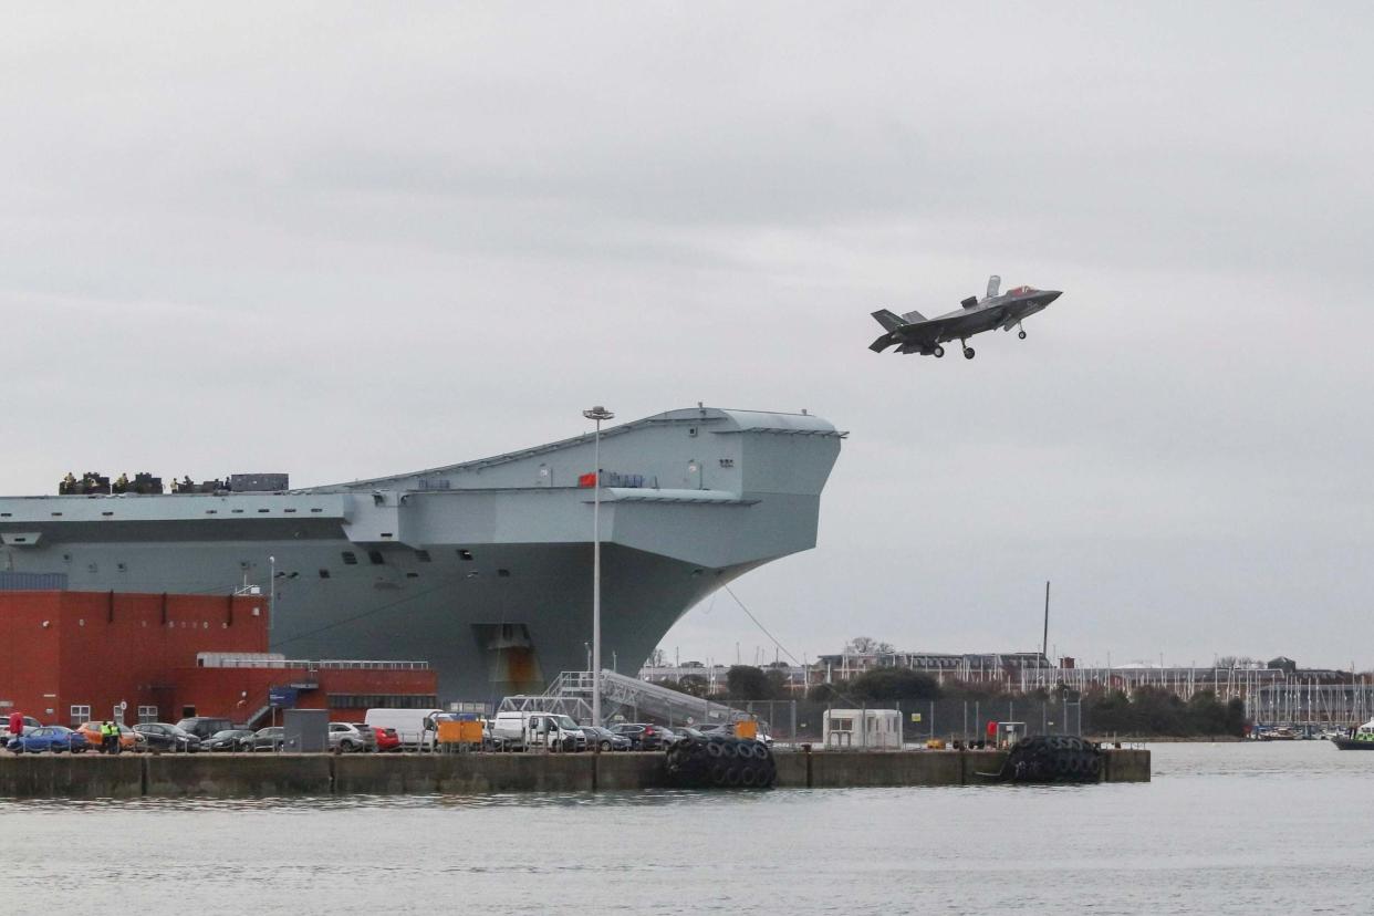
M1050 578L1083 661L1374 665L1367 4L65 11L0 14L5 493L805 407L820 544L735 585L798 656L1033 648ZM1028 341L867 350L993 272Z

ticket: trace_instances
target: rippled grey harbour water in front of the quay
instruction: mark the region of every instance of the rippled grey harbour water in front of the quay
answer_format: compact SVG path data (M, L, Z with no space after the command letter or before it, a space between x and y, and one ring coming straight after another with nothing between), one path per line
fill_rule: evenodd
M3 912L1320 913L1374 894L1374 754L1154 744L1154 781L0 801Z

